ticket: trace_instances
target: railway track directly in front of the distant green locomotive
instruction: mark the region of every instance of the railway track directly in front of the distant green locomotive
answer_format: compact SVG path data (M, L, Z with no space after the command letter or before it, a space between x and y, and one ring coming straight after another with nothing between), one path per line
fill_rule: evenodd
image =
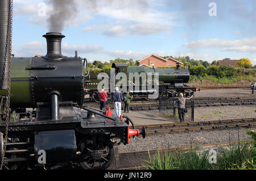
M188 99L186 104L187 107L191 107L192 100L194 101L195 107L214 107L214 106L237 106L237 105L256 105L256 97L225 97L225 98L192 98ZM92 107L98 108L99 103L91 102L86 103ZM109 103L110 108L114 108L113 103ZM130 110L139 111L139 110L158 110L159 109L159 100L141 100L141 101L132 101L130 103ZM161 99L161 109L171 109L173 108L173 99ZM123 110L123 107L122 107Z

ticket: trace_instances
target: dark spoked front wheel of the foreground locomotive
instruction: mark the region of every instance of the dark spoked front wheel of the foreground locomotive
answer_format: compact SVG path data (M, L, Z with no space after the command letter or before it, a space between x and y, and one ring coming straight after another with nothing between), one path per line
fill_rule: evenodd
M97 140L97 139L96 139ZM102 148L99 140L93 142L92 136L82 140L78 146L81 154L78 155L78 161L83 169L102 170L107 169L114 160L113 142L103 138Z

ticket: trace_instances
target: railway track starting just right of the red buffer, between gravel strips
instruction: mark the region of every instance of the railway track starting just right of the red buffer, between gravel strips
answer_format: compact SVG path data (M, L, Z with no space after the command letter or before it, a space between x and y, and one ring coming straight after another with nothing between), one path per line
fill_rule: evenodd
M194 121L184 123L170 124L154 124L154 125L139 125L137 129L146 128L147 134L152 133L167 133L167 132L184 132L184 131L205 131L210 129L225 129L238 127L255 127L256 117L247 119L229 119L216 121Z

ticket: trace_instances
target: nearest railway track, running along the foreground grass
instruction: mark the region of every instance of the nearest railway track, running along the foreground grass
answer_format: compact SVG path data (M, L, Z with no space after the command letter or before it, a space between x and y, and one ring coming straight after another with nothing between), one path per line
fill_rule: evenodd
M120 164L118 165L118 170L145 170L146 167L142 165L142 163L146 163L145 161L150 161L151 158L154 157L154 154L158 153L158 151L175 151L175 150L191 150L198 148L200 150L204 149L213 149L217 148L220 146L229 146L229 145L234 145L234 144L242 144L245 142L252 142L253 140L247 140L247 141L235 141L235 142L225 142L225 143L217 143L217 144L206 144L206 145L197 145L197 146L185 146L185 147L180 147L180 148L169 148L169 149L158 149L158 150L143 150L143 151L130 151L130 152L125 152L125 153L119 153L118 158L119 159L133 159L136 160L135 165L131 167L127 166L121 166ZM130 165L129 165L130 166Z

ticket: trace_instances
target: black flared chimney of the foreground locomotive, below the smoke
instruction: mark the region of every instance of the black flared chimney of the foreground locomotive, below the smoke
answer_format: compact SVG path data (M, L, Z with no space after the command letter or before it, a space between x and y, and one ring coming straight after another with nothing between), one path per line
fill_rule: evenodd
M61 40L64 35L57 32L50 32L43 35L47 41L47 54L43 58L60 59L64 56L61 54Z

